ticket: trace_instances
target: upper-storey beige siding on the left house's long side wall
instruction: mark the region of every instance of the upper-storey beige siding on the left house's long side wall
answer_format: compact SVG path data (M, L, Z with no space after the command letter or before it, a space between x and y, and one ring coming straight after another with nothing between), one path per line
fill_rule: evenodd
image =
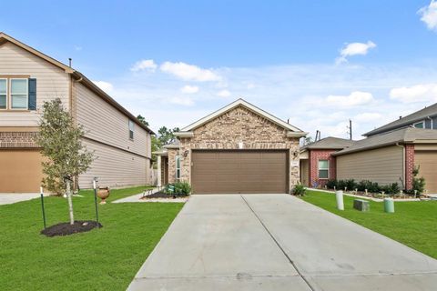
M86 137L123 148L141 156L151 157L150 135L134 126L134 140L129 139L128 117L94 94L85 85L76 83L76 120L84 125Z

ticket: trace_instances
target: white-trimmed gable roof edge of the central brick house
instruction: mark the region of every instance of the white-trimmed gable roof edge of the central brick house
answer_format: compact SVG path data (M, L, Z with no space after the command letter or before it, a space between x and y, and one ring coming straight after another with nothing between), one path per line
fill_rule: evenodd
M249 109L250 111L256 113L257 115L261 115L262 117L268 119L269 121L271 121L272 123L279 125L280 127L283 127L285 129L290 130L293 133L297 133L300 134L300 136L304 136L307 135L308 133L303 132L302 130L300 130L298 127L295 127L293 125L290 125L288 123L286 123L285 121L279 119L278 117L274 116L274 115L270 115L268 112L260 109L259 107L250 104L249 102L247 102L246 100L243 100L242 98L239 98L238 100L232 102L229 105L226 105L222 108L220 108L219 110L211 113L210 115L206 115L205 117L199 119L198 121L192 123L191 125L188 125L184 128L182 128L181 130L181 135L184 135L184 132L190 132L193 129L198 128L198 126L200 125L205 125L206 123L208 123L209 121L213 120L214 118L218 117L219 115L223 115L227 112L229 112L230 110L238 107L238 106L243 106L247 109Z

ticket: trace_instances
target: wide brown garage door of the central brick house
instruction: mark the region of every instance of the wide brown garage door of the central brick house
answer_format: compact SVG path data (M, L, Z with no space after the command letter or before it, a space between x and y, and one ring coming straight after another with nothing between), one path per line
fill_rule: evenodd
M286 193L286 151L193 151L195 194Z

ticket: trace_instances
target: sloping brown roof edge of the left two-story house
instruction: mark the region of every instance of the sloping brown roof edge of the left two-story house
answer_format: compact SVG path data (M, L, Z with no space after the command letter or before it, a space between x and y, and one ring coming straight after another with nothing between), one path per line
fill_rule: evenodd
M113 105L118 111L120 111L122 114L127 115L127 117L129 119L131 119L133 122L135 122L137 125L139 125L141 128L143 128L144 130L146 130L148 133L150 133L151 135L155 135L155 133L148 128L147 125L144 125L143 123L141 123L136 116L132 115L129 111L127 111L127 109L125 107L123 107L122 105L120 105L114 98L112 98L110 95L107 95L107 93L105 91L103 91L102 89L100 89L100 87L98 87L96 84L94 84L94 82L92 82L91 80L89 80L85 75L83 75L82 73L80 73L79 71L76 71L74 68L65 65L59 61L57 61L56 59L54 59L53 57L50 57L48 55L45 55L43 53L41 53L40 51L36 50L33 47L30 47L29 45L25 45L22 42L16 40L14 37L6 35L3 32L0 32L0 45L4 45L6 42L10 42L14 45L17 45L18 47L21 47L22 49L24 49L25 51L36 55L44 60L46 60L48 63L55 65L61 69L63 69L67 74L73 75L76 79L77 82L81 82L83 85L86 85L86 87L88 89L90 89L91 91L93 91L96 95L100 96L102 99L104 99L105 101L107 101L107 103L109 103L110 105Z

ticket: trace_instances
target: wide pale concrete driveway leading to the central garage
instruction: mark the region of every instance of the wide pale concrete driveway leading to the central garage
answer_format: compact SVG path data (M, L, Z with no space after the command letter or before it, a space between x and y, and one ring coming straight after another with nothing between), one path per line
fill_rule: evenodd
M129 290L435 290L437 260L289 195L191 196Z

